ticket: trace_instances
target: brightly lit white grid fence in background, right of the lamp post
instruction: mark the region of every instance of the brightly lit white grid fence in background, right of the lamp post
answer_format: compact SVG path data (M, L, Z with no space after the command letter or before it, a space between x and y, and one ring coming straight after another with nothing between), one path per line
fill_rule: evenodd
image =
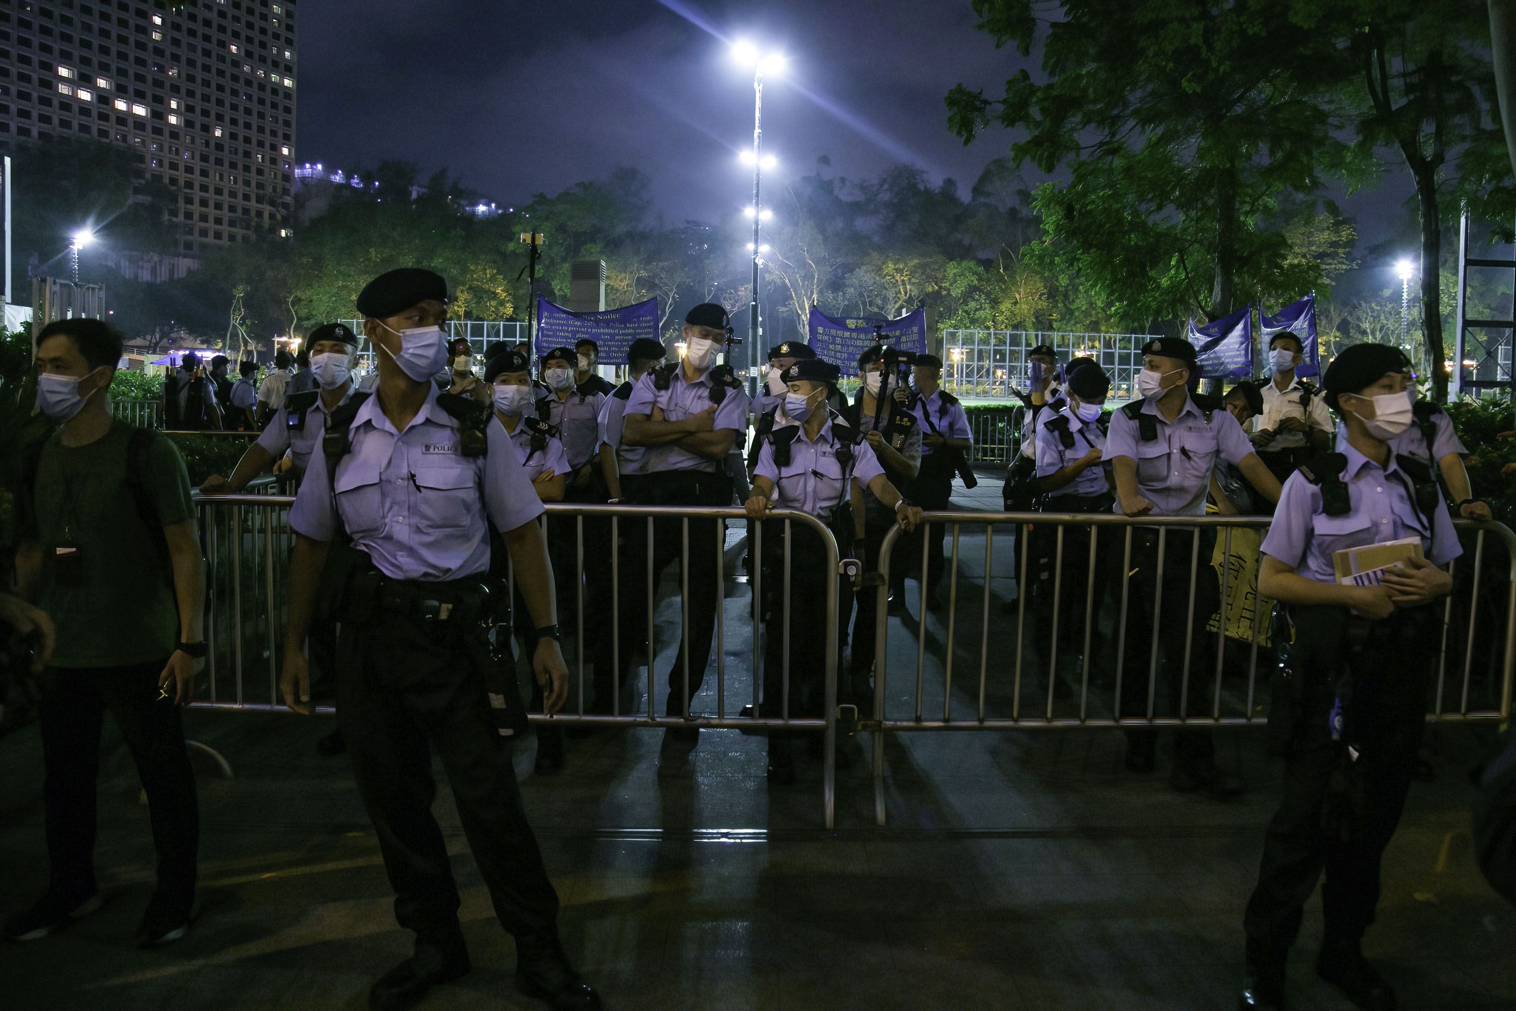
M1026 390L1026 356L1051 344L1058 361L1088 356L1111 377L1111 397L1137 396L1142 346L1146 333L1048 333L1040 330L943 330L943 387L969 400L1014 400L1011 388Z

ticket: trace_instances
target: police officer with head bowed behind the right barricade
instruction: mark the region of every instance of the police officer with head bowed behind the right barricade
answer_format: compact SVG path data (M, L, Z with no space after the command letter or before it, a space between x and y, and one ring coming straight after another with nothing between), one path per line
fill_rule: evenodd
M1104 464L1105 397L1111 379L1095 362L1069 373L1066 403L1060 411L1045 409L1037 424L1037 508L1040 512L1110 512L1114 502L1110 470ZM1108 534L1108 531L1105 532ZM1054 584L1061 582L1058 631L1063 652L1075 655L1084 647L1085 581L1090 579L1090 534L1081 526L1066 526L1063 532L1063 577L1054 577L1058 562L1058 527L1032 527L1032 558L1038 559L1032 582L1035 597L1035 638L1040 655L1049 658ZM1110 540L1110 538L1102 538ZM1108 570L1104 552L1096 550L1095 599L1099 600ZM1063 682L1057 682L1061 685ZM1058 690L1058 688L1055 688Z

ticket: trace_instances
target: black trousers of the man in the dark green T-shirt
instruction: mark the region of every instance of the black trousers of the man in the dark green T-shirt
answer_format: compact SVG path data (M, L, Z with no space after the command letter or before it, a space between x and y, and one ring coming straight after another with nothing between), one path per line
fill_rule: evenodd
M44 675L39 721L49 891L96 893L96 778L100 728L109 709L147 791L158 888L177 897L194 894L200 809L179 706L159 697L158 676L167 662L52 667Z

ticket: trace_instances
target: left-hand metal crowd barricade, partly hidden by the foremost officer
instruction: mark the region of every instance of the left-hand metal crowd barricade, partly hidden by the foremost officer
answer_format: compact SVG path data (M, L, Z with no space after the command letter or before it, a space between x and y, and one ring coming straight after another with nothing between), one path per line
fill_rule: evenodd
M252 711L287 711L283 702L279 696L279 658L282 650L283 626L285 626L285 609L288 596L288 559L290 552L294 544L294 532L288 524L290 505L294 499L288 496L273 496L273 494L226 494L226 496L200 496L199 508L202 518L202 529L205 538L205 550L208 558L208 594L206 594L206 641L211 644L209 658L206 664L206 685L202 691L203 700L196 702L196 705L203 708L218 708L218 709L252 709ZM825 803L825 820L826 828L832 828L834 812L835 812L835 740L837 740L837 650L826 650L826 667L825 667L825 709L822 717L796 717L790 714L790 664L788 664L788 624L791 606L816 606L816 600L796 600L790 599L790 564L803 565L826 565L826 571L835 573L840 564L837 541L832 538L831 531L817 518L807 515L803 512L791 511L775 511L770 514L772 518L753 524L753 543L750 544L750 556L756 561L763 558L763 538L764 531L775 527L784 527L785 535L788 535L790 527L794 524L808 526L822 537L826 556L823 559L816 558L791 558L788 552L788 537L785 550L785 576L784 576L784 593L782 593L782 628L769 631L763 628L760 620L738 621L735 629L738 634L747 632L752 637L752 703L755 715L741 715L738 711L741 703L732 703L732 697L728 693L731 671L725 662L725 647L729 640L732 629L728 628L725 615L725 600L726 600L726 559L725 559L725 535L726 521L741 521L746 523L746 512L738 508L713 508L713 506L620 506L620 505L581 505L581 503L549 503L546 508L547 523L572 523L573 524L573 546L575 546L575 565L573 570L587 571L588 564L590 576L605 577L609 574L611 581L611 614L609 620L609 635L611 635L611 670L612 670L612 711L609 714L594 714L585 712L585 702L588 693L587 685L587 635L596 635L588 623L594 623L596 629L603 629L605 615L587 615L585 603L590 594L591 585L588 579L581 579L576 582L576 590L573 593L573 624L576 632L572 637L565 637L564 646L572 646L573 649L565 649L570 653L568 659L568 675L573 685L578 687L578 702L572 706L573 711L561 711L553 715L543 712L529 714L529 720L537 725L590 725L590 726L625 726L625 728L726 728L726 729L787 729L787 731L810 731L820 732L825 735L825 750L823 750L823 803ZM620 697L622 697L622 676L620 671L629 664L623 664L623 655L626 649L641 649L641 643L623 644L622 643L622 565L631 562L622 550L612 550L608 559L587 559L584 555L585 544L585 520L587 518L603 518L611 524L611 544L620 544L622 532L626 531L626 524L641 523L646 524L646 562L644 562L644 590L646 590L646 634L647 634L647 705L646 709L637 712L622 712ZM688 546L691 529L691 520L717 520L714 524L716 544L716 585L717 585L717 606L716 606L716 634L714 634L714 649L716 653L716 709L713 712L696 714L658 714L658 696L661 694L659 687L659 644L658 644L658 628L655 620L656 603L658 603L658 581L661 573L652 571L653 552L655 552L655 529L658 521L678 521L679 537L682 538L682 555L688 559ZM770 534L772 535L772 534ZM552 543L552 541L550 541ZM641 559L638 559L641 561ZM763 594L763 573L760 565L753 565L752 596L755 600L761 599ZM688 561L679 565L678 570L678 593L681 596L681 640L679 649L688 653L688 588L690 588L690 571ZM506 593L511 600L515 599L514 593L514 573L508 577ZM561 597L562 594L559 594ZM828 593L825 600L826 608L826 629L828 643L835 643L837 621L838 621L838 597L837 597L837 581L828 581ZM514 615L512 615L514 617ZM559 615L559 623L570 624L570 615ZM512 621L514 624L514 621ZM511 626L506 624L506 629ZM784 671L782 685L784 697L779 702L779 711L772 712L761 708L760 687L763 684L763 661L764 661L764 637L782 635L784 644ZM746 650L744 650L746 652ZM706 679L708 681L708 679ZM688 696L688 684L685 684L685 696ZM687 703L688 706L693 705ZM772 703L770 703L772 705ZM318 705L318 712L332 712L332 706ZM758 715L761 714L761 715Z

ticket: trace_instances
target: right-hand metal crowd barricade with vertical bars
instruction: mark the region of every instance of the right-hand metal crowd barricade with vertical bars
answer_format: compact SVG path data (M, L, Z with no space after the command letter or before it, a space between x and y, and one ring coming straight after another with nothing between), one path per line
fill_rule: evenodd
M875 787L875 820L878 825L885 823L885 790L884 790L884 747L885 735L891 732L904 731L1007 731L1020 728L1073 728L1073 726L1251 726L1266 721L1266 715L1260 711L1258 702L1258 647L1261 631L1267 621L1267 612L1258 614L1257 609L1257 594L1254 593L1254 615L1252 615L1252 637L1251 643L1246 644L1246 688L1240 697L1233 693L1231 696L1223 694L1223 668L1226 659L1226 611L1228 611L1228 591L1229 579L1233 573L1233 565L1229 559L1233 556L1233 532L1239 529L1257 529L1263 531L1269 526L1269 517L1139 517L1128 518L1114 514L1073 514L1073 512L926 512L923 514L923 524L928 524L925 537L922 537L922 570L928 564L928 537L941 537L943 527L948 531L951 538L951 552L944 559L946 577L948 577L948 614L943 615L943 624L946 628L946 640L941 643L941 681L934 685L926 679L926 655L928 655L928 621L925 602L919 614L922 620L916 632L916 671L914 679L908 675L908 668L902 670L902 664L891 665L890 661L890 623L888 623L888 573L891 564L899 564L902 559L897 558L896 549L899 546L904 532L901 527L893 527L884 538L884 544L879 552L879 571L884 573L876 597L875 597L875 614L876 614L876 641L875 641L875 696L873 696L873 718L861 720L858 729L873 732L873 787ZM991 600L994 594L991 593L993 581L993 565L998 552L1004 553L1007 549L1001 547L1001 541L1008 538L998 538L996 527L1002 526L1016 527L1016 588L1017 588L1017 603L1016 614L1010 624L1014 626L1014 644L1011 652L1002 653L1001 656L993 656L991 649ZM1045 614L1028 615L1028 597L1031 596L1031 582L1028 581L1028 564L1029 555L1029 532L1034 526L1052 526L1055 527L1055 535L1051 544L1052 553L1052 596L1051 608ZM1078 527L1070 534L1069 527ZM1148 656L1148 662L1143 664L1143 670L1129 671L1125 670L1125 646L1128 632L1128 614L1131 612L1131 591L1132 591L1132 537L1140 527L1151 527L1157 531L1157 565L1155 565L1155 600L1152 606L1152 647ZM1192 699L1190 693L1190 673L1192 673L1192 644L1198 641L1192 637L1196 621L1208 621L1213 615L1196 615L1195 614L1195 597L1196 597L1196 576L1201 565L1211 565L1210 558L1201 558L1202 527L1213 527L1217 534L1217 541L1222 547L1222 565L1220 565L1220 594L1219 594L1219 614L1216 615L1216 659L1214 659L1214 693L1207 700L1205 712L1201 715L1187 715L1190 711L1189 702ZM1427 718L1433 721L1463 721L1463 720L1508 720L1511 715L1511 685L1513 671L1516 671L1516 534L1499 523L1474 523L1466 520L1455 521L1455 527L1460 534L1474 535L1474 549L1467 550L1467 537L1461 538L1464 541L1464 555L1454 559L1451 565L1451 573L1454 576L1454 593L1436 606L1442 612L1442 644L1439 650L1439 662L1436 673L1436 700L1428 712ZM970 714L963 715L964 702L958 702L958 714L954 712L955 708L955 685L954 675L955 667L961 668L960 652L960 626L967 617L960 611L960 602L966 597L964 587L961 582L966 581L961 565L961 549L966 540L966 529L972 532L981 532L984 538L984 571L981 582L981 614L979 614L979 637L978 637L978 684L972 685L972 691L961 691L961 678L958 691L961 694L970 696L966 702ZM1101 537L1102 529L1113 529L1122 534L1122 541L1119 546L1105 544L1105 550L1111 552L1105 556L1104 565L1110 565L1117 553L1120 558L1122 568L1119 570L1120 579L1119 587L1114 585L1098 585L1098 574L1102 571L1102 559L1098 553L1102 550ZM970 534L972 535L972 534ZM1073 573L1064 571L1063 559L1066 547L1072 544L1072 537L1087 537L1088 538L1088 562L1085 571ZM1166 543L1170 538L1187 538L1190 540L1190 555L1189 555L1189 599L1179 602L1179 606L1173 606L1172 602L1166 606L1163 600L1163 567L1166 558ZM1496 541L1505 549L1507 559L1504 562L1504 573L1499 573L1493 565L1501 564L1499 559L1490 558L1489 541ZM913 552L914 553L914 552ZM1107 571L1110 571L1107 568ZM1472 574L1472 577L1469 577ZM1502 579L1499 576L1504 576ZM1254 579L1257 576L1254 574ZM1078 696L1075 700L1064 703L1064 712L1058 712L1057 699L1057 681L1058 681L1058 632L1060 632L1060 606L1064 599L1063 588L1064 581L1078 579L1079 585L1084 587L1084 606L1082 606L1082 632L1078 641L1082 643L1082 664L1078 671ZM1505 588L1505 600L1492 602L1484 599L1487 582L1502 582ZM1254 590L1257 584L1254 582ZM1119 599L1119 606L1116 609L1114 618L1108 614L1108 623L1102 623L1102 614L1098 611L1098 599L1104 596L1105 591L1111 591ZM1484 611L1481 611L1481 603ZM860 605L861 606L861 605ZM1182 612L1179 608L1184 608ZM1498 608L1498 609L1496 609ZM1158 650L1160 650L1160 624L1164 620L1182 620L1186 623L1184 637L1184 656L1182 664L1178 667L1179 685L1179 703L1178 712L1182 715L1157 715L1157 709L1164 706L1158 702ZM1483 618L1481 618L1483 615ZM1493 615L1493 617L1492 617ZM1026 632L1028 632L1028 617L1031 617L1035 624L1040 620L1051 617L1051 628L1048 629L1048 649L1043 665L1038 670L1031 670L1028 661ZM1102 628L1108 624L1108 628ZM1493 628L1496 626L1498 628ZM1207 632L1208 634L1208 632ZM1114 641L1114 662L1105 664L1104 667L1113 667L1113 687L1110 690L1108 700L1101 696L1092 696L1092 662L1095 658L1095 649L1102 643ZM1234 640L1236 641L1236 640ZM1499 643L1499 653L1496 656L1496 641ZM1449 659L1457 659L1461 653L1461 679L1455 684L1449 684ZM991 662L993 658L993 662ZM1484 688L1483 688L1483 706L1471 705L1471 694L1475 678L1475 662L1484 661ZM1172 667L1166 664L1166 668ZM891 700L890 681L907 676L907 691L904 697L894 697ZM1122 681L1123 678L1142 678L1146 684L1146 712L1129 714L1122 712ZM914 684L911 684L914 682ZM1035 685L1035 691L1041 694L1043 687L1046 687L1046 697L1037 699L1035 711L1028 711L1022 705L1022 691L1026 685ZM1004 691L1010 687L1011 697L1007 712L991 712L994 706L988 703L988 696L991 691ZM1455 690L1458 703L1454 708L1445 705L1445 690L1452 687ZM929 712L926 708L928 693L934 696L940 691L941 715L940 718L935 712ZM1198 697L1198 696L1196 696ZM934 699L935 700L935 699ZM1228 714L1229 711L1229 714Z

